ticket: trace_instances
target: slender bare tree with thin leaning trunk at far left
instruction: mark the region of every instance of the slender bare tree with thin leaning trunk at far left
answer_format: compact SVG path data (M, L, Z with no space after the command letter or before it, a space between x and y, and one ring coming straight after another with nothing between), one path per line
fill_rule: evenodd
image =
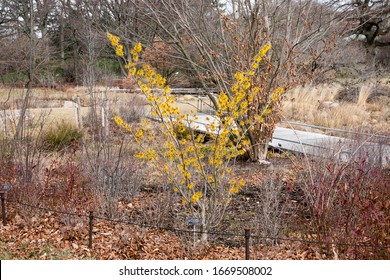
M51 10L51 3L53 2L49 0L9 1L7 3L8 6L2 6L2 8L8 12L7 20L3 21L3 23L7 24L1 26L2 34L7 35L3 38L3 40L6 40L5 46L9 43L8 47L15 49L16 46L12 44L13 40L25 42L25 44L21 45L22 50L24 50L25 53L19 53L22 57L17 58L17 61L25 60L26 62L24 62L24 65L21 67L17 66L16 69L19 68L26 71L28 75L27 89L23 95L23 102L18 114L10 152L11 158L18 162L21 185L31 182L32 171L36 163L35 157L37 156L37 149L32 143L33 140L31 136L33 129L28 128L27 118L37 69L45 63L45 59L48 56L47 48L45 47L46 45L42 42L46 38L46 28L48 26L47 21ZM10 27L15 27L16 31L10 31ZM45 116L42 115L41 117ZM38 132L38 137L42 132L43 124L44 120L39 123L40 131ZM37 161L39 161L39 158Z

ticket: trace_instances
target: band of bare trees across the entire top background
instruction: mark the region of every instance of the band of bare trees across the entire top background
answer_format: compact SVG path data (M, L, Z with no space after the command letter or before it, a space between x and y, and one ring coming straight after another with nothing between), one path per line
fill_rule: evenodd
M183 85L223 87L221 78L229 80L266 41L282 68L291 59L308 72L390 64L389 0L7 0L0 2L0 82L28 80L31 50L37 85L119 76L124 69L106 32L127 49L141 42L145 59Z

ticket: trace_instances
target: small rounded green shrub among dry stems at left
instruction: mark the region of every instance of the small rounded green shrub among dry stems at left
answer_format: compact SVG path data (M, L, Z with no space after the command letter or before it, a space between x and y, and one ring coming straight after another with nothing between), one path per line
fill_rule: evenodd
M61 122L46 131L42 146L45 151L60 151L77 144L82 137L82 131L69 123Z

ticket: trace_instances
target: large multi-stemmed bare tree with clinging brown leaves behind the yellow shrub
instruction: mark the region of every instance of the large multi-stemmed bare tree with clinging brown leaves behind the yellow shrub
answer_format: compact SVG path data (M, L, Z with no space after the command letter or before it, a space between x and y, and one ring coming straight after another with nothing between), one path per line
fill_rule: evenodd
M317 1L144 2L161 38L178 50L203 87L216 86L229 99L234 98L231 87L235 73L249 69L259 49L271 43L263 75L252 80L261 89L251 104L255 113L265 109L275 89L291 88L313 74L321 55L329 49L328 36L336 21L336 12ZM218 110L215 96L209 93L209 97ZM251 113L243 122L236 120L237 125L245 123L243 131L251 142L252 160L266 156L279 117L277 110L262 123Z

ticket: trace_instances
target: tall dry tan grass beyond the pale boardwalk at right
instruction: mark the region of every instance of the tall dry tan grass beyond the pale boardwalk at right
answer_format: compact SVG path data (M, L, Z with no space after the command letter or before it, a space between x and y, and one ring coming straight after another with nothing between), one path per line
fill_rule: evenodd
M367 103L375 85L362 84L357 102L337 101L340 84L297 87L284 100L282 119L318 126L361 129L385 133L390 131L390 107Z

